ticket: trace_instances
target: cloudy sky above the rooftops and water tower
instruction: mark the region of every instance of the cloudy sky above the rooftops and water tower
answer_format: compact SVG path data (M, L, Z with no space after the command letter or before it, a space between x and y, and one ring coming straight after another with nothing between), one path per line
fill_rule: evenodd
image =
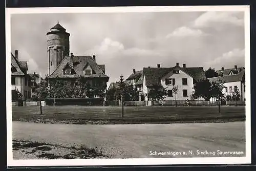
M110 82L143 67L233 68L245 65L244 12L41 13L11 15L11 51L28 72L48 73L46 33L70 33L70 53L96 55Z

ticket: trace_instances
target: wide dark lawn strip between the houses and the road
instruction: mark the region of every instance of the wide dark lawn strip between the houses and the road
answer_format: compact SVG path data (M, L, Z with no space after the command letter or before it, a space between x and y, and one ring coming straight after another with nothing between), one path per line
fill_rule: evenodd
M73 124L229 122L245 120L245 106L13 106L13 121Z

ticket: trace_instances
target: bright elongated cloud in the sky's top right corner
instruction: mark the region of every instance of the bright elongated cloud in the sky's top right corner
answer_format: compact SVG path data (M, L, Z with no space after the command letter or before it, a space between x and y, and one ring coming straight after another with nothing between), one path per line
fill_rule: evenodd
M244 26L242 12L208 11L200 15L194 22L195 27L219 27L220 24Z

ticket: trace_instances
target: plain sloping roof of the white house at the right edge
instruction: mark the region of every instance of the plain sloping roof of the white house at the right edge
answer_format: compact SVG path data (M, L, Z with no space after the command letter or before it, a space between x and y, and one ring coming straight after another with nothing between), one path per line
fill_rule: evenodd
M245 70L242 70L240 73L234 74L234 75L224 75L224 76L213 77L208 79L210 82L216 82L219 79L223 80L224 82L245 81Z

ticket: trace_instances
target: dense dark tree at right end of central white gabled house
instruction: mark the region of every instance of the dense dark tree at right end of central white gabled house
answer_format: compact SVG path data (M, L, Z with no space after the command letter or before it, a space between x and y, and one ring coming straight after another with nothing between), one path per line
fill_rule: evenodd
M208 79L202 79L198 81L193 88L195 90L193 97L194 98L203 97L205 100L209 100L210 87L211 87L211 83L209 82Z

